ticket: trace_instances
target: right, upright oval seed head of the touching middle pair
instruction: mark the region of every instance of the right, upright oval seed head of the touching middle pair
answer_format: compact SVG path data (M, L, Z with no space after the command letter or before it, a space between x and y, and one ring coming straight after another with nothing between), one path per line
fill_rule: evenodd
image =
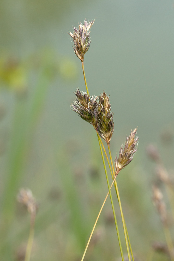
M111 104L106 92L99 96L98 106L98 133L107 143L110 143L114 131L113 114L111 113Z

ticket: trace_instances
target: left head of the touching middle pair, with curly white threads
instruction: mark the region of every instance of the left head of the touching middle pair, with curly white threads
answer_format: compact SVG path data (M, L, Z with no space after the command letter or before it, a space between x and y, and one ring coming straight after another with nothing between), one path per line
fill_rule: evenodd
M71 103L71 109L79 116L92 124L94 128L97 130L98 127L98 97L91 96L89 97L87 93L80 92L77 88L75 95L77 98L75 99L74 103Z

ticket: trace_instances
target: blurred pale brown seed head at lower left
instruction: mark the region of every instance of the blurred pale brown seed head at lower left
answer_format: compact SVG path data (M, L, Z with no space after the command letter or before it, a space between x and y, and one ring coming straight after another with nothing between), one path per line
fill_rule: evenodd
M17 195L17 201L25 205L30 214L36 214L38 205L30 189L21 188Z

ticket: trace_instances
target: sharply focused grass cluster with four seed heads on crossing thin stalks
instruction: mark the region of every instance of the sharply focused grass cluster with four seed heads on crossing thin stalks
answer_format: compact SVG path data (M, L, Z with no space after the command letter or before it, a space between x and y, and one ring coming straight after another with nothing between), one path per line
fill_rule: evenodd
M137 151L138 137L135 138L137 129L134 129L134 131L131 132L130 136L127 137L125 146L124 146L124 150L123 150L123 146L121 147L121 149L119 151L119 157L117 158L117 156L116 156L116 158L115 158L115 169L114 169L112 156L111 156L111 150L110 150L110 140L111 140L111 137L112 137L112 134L114 131L114 122L113 122L113 114L111 112L111 104L110 104L109 96L107 96L105 91L103 91L103 93L100 94L99 99L97 96L89 96L89 91L88 91L87 81L86 81L86 76L85 76L85 70L84 70L84 55L88 51L90 43L91 43L91 40L89 38L90 28L93 25L94 21L95 20L93 20L91 22L87 22L85 20L84 24L82 24L82 23L79 24L79 28L74 27L74 33L69 32L69 35L73 38L73 41L74 41L74 47L73 47L74 52L77 55L77 57L81 60L81 63L82 63L83 76L84 76L85 86L86 86L86 91L87 91L87 93L85 93L85 92L79 91L79 89L76 90L75 94L76 94L77 98L74 101L74 103L71 104L71 109L73 111L77 112L77 114L79 114L79 116L83 120L92 124L95 131L97 132L101 157L102 157L105 175L106 175L106 181L107 181L107 185L108 185L108 189L109 189L113 216L114 216L116 230L117 230L121 258L122 258L122 260L124 260L123 251L122 251L122 243L121 243L121 239L119 236L116 213L115 213L115 209L114 209L114 205L113 205L111 187L109 184L105 159L104 159L104 155L103 155L104 145L101 141L101 138L104 139L104 141L107 143L112 168L110 166L109 159L108 159L105 149L104 149L104 153L106 155L107 162L109 164L109 168L111 171L112 179L114 181L115 190L116 190L118 203L119 203L119 207L120 207L120 212L121 212L121 217L122 217L128 259L129 259L129 261L131 261L129 247L131 249L131 255L132 255L133 260L134 260L134 257L133 257L133 252L132 252L132 248L130 245L130 240L128 240L129 236L128 236L128 231L127 231L126 224L125 224L125 219L124 219L123 210L122 210L122 206L121 206L121 200L119 197L116 177L117 177L118 173L121 171L121 169L125 168L132 161L134 154ZM102 147L103 147L103 149L102 149ZM107 196L106 196L106 198L107 198ZM104 201L104 203L105 203L105 201ZM99 215L104 206L104 203L100 209ZM99 217L99 215L98 215L98 217ZM97 220L98 220L98 217L97 217ZM95 225L97 223L97 220L95 222ZM94 225L94 228L95 228L95 225ZM93 230L94 230L94 228L93 228ZM93 230L92 230L92 233L93 233ZM89 237L89 240L91 239L92 233ZM89 241L87 243L87 247L88 247L88 245L89 245ZM83 254L82 260L85 257L87 247Z

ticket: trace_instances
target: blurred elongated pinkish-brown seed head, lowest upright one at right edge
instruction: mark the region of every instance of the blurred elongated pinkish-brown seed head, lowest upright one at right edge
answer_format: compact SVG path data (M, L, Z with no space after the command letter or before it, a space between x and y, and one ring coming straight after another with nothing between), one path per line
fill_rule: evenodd
M163 194L156 185L154 185L152 189L153 189L153 203L159 213L161 221L163 222L163 224L166 224L167 211L166 211L166 205L163 201Z

